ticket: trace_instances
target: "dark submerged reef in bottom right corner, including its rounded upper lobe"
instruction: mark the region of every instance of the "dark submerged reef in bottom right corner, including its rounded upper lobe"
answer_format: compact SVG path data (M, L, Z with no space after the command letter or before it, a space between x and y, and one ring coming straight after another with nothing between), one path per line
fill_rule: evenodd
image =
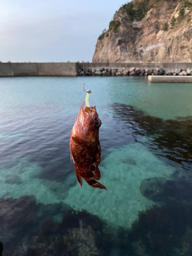
M131 229L119 228L119 254L191 255L191 185L183 179L165 181L162 177L144 181L140 187L142 194L162 204L140 212Z

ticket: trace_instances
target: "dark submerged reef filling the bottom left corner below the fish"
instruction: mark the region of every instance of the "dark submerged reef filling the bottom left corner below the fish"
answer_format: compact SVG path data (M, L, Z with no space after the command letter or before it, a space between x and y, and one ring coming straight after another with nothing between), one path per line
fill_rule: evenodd
M61 214L61 222L54 216ZM35 197L0 199L3 256L110 255L112 239L105 223L65 204L36 204ZM1 248L1 243L0 243ZM1 250L0 250L1 251Z

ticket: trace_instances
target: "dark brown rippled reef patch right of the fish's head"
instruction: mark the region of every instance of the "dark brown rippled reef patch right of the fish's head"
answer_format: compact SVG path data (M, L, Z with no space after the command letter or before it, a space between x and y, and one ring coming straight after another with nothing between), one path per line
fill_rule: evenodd
M145 115L133 106L114 103L111 105L114 118L121 119L124 129L132 135L150 136L147 145L157 152L158 156L181 164L189 170L192 164L192 116L177 120L163 120L158 117Z

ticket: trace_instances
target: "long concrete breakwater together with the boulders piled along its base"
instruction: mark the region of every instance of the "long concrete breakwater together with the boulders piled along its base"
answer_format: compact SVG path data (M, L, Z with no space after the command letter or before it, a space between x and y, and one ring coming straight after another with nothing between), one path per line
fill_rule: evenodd
M192 75L192 63L2 63L1 76Z

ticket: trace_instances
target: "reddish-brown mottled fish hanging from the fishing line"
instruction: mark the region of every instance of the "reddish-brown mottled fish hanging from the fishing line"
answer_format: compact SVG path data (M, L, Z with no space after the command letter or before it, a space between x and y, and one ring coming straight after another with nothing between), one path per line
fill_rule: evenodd
M71 161L74 163L80 187L82 187L83 178L91 187L108 189L98 182L101 178L98 168L101 162L100 126L101 120L95 106L85 106L83 102L70 138Z

